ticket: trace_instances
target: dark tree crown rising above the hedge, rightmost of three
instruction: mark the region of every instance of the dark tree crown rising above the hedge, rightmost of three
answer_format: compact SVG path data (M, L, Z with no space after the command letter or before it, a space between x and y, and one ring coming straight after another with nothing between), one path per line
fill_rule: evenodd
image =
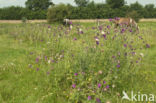
M106 4L110 5L111 8L121 8L125 5L125 0L106 0Z

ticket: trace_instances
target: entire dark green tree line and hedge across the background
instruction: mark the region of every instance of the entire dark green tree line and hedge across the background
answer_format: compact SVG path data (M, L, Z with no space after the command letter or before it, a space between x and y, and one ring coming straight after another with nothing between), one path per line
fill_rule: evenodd
M26 7L11 6L0 8L0 19L20 20L47 19L51 22L69 19L103 19L134 16L134 18L156 18L154 4L141 5L135 2L126 5L125 0L106 0L95 3L89 0L75 0L77 6L70 4L55 5L50 0L27 0Z

